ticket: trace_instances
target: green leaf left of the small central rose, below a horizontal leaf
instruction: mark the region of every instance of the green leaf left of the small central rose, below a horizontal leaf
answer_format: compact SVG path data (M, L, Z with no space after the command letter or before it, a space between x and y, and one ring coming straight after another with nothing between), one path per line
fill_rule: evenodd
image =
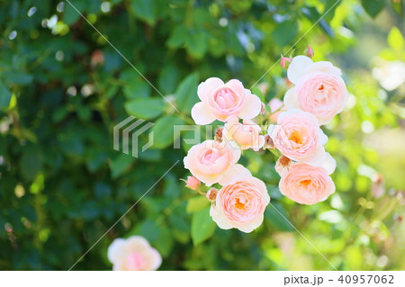
M166 148L174 141L174 126L183 125L184 121L176 116L166 116L158 119L152 127L154 133L154 148ZM179 136L179 135L176 135Z

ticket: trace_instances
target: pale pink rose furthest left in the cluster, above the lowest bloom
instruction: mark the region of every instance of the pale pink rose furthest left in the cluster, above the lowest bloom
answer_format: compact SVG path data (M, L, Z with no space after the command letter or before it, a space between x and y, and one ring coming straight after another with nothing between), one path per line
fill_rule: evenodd
M205 140L193 146L184 157L184 167L202 183L211 186L233 184L246 168L238 165L240 148L235 141Z

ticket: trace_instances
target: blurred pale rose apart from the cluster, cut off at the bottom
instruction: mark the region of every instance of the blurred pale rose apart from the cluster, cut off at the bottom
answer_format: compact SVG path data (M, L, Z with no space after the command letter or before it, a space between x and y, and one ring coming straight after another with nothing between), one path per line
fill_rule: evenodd
M128 239L117 238L108 247L108 260L114 271L150 271L157 270L162 257L148 240L139 236Z

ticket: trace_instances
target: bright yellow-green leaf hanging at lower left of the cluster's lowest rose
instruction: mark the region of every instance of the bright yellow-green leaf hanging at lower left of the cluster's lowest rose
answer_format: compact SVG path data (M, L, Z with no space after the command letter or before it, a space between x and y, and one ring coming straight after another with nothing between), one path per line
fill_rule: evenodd
M210 217L210 209L204 209L193 213L191 235L194 246L211 238L215 231L215 222Z

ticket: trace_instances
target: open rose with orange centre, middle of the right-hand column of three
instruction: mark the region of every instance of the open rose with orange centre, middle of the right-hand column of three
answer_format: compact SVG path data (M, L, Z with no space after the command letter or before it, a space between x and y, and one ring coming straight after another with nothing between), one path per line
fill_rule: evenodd
M277 125L270 125L268 134L275 148L290 159L311 166L320 166L325 159L323 145L328 137L320 130L320 124L310 112L293 109L282 112Z

